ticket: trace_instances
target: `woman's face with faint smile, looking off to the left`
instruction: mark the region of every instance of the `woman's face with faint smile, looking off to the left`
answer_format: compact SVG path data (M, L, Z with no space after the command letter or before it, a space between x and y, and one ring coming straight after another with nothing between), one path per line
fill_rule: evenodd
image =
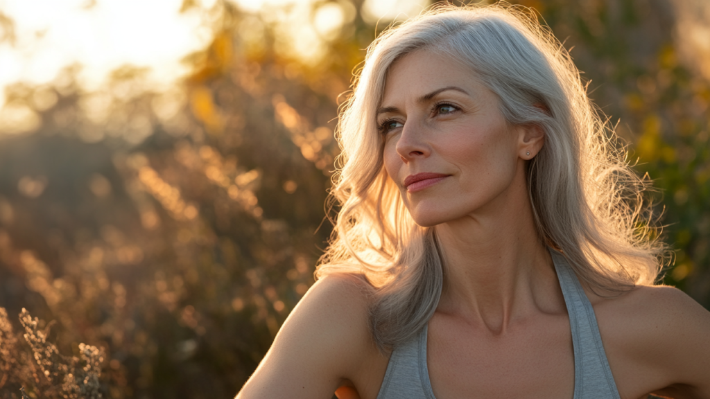
M507 124L496 94L449 58L418 50L395 62L377 124L387 174L420 226L495 212L525 185L525 129Z

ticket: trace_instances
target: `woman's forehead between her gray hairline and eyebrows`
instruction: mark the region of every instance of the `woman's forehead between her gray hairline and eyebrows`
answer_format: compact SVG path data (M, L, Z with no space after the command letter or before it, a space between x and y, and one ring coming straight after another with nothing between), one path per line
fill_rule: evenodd
M479 80L473 68L463 62L430 50L417 50L393 62L389 67L383 92L383 105L421 97L442 87L461 87L479 97L492 94Z

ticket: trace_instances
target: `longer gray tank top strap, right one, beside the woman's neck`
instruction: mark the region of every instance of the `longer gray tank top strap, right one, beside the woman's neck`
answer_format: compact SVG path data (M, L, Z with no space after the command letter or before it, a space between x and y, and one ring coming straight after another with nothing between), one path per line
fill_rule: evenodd
M574 346L574 399L621 399L611 375L594 308L562 253L550 248L569 314Z

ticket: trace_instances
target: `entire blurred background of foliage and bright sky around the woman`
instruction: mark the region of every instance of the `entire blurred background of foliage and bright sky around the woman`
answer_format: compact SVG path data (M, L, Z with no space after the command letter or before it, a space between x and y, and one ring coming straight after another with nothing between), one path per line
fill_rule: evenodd
M710 3L513 3L655 181L664 283L710 307ZM352 72L427 6L0 0L0 397L80 397L23 307L60 354L102 348L104 398L234 396L313 283Z

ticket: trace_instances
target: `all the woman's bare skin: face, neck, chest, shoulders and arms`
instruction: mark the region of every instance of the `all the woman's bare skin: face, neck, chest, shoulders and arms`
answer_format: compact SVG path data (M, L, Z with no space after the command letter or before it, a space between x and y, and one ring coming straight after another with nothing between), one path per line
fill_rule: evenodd
M507 124L498 104L471 71L419 50L391 67L378 114L388 176L415 222L436 226L447 258L427 336L430 380L439 399L568 399L569 317L525 185L545 137ZM446 177L405 187L425 172ZM349 275L313 285L237 398L375 399L388 358L368 329L366 290ZM621 398L710 398L710 312L670 287L585 291Z

